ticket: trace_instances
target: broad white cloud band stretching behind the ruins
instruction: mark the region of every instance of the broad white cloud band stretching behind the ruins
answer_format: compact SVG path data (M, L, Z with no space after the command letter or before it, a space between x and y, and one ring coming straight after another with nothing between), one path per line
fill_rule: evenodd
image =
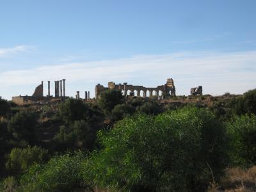
M247 52L177 52L161 55L138 55L119 60L44 65L29 70L0 73L0 89L19 95L17 88L40 81L67 79L67 93L90 90L108 81L128 82L154 87L168 77L175 81L178 94L189 94L191 87L202 85L204 93L243 93L256 87L256 51ZM4 96L4 95L3 95ZM9 96L10 97L10 96Z

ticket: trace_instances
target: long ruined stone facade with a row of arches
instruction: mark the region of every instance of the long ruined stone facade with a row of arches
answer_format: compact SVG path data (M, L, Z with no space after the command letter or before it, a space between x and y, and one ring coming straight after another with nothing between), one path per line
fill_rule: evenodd
M120 90L122 93L126 95L133 95L137 97L152 97L156 95L157 97L165 95L175 96L175 86L173 79L167 79L167 82L163 85L157 86L156 88L146 88L145 86L140 85L132 85L127 83L119 83L115 84L113 82L108 83L108 87L104 87L101 84L97 84L95 86L95 99L99 98L101 92L105 92L106 90Z

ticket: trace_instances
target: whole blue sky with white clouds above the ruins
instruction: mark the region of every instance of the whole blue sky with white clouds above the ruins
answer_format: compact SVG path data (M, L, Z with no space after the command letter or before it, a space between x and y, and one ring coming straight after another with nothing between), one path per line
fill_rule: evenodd
M173 78L221 95L256 88L255 0L0 0L0 96L66 80L66 95L108 81Z

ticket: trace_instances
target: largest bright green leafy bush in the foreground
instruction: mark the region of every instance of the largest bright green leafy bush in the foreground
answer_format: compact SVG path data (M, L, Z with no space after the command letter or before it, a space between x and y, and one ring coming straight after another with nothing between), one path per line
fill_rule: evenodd
M99 141L84 178L125 191L205 191L227 162L225 128L205 109L125 118Z

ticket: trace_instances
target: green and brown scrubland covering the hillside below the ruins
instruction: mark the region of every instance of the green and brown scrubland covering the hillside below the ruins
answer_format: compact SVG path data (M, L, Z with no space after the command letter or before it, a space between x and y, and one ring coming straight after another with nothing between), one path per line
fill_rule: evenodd
M0 191L256 191L256 90L1 99L0 116Z

